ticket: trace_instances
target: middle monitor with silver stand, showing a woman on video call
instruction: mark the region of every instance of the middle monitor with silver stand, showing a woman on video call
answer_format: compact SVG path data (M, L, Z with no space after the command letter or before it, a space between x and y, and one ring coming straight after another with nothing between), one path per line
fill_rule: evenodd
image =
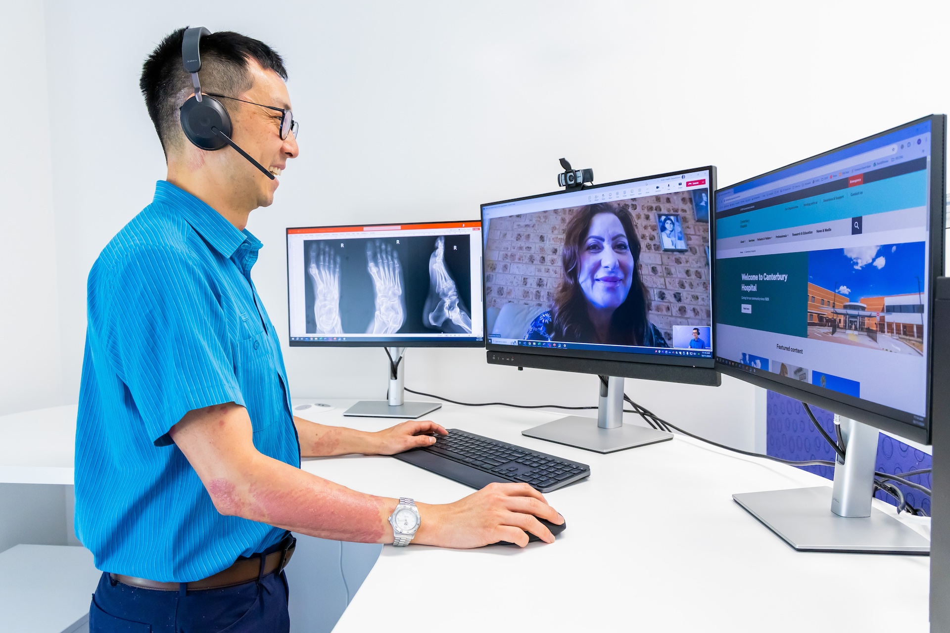
M669 439L622 424L623 378L719 384L714 189L709 166L482 205L488 363L609 377L598 426L525 435L602 453Z

